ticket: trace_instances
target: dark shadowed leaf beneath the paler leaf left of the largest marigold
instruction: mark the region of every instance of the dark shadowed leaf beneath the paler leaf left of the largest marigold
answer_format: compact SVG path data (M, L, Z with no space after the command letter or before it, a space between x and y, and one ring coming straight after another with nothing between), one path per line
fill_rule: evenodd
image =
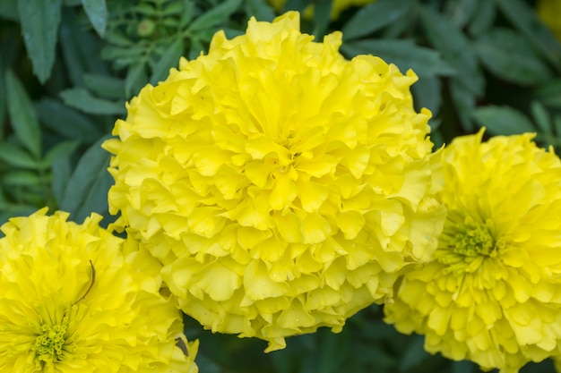
M41 123L65 139L81 140L90 144L102 135L96 123L71 107L53 98L43 98L35 103Z

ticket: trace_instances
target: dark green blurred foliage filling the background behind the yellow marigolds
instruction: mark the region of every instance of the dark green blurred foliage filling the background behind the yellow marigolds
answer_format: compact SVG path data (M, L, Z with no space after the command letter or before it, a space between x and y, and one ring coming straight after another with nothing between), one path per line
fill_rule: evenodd
M335 20L330 0L289 0L283 11L312 3L304 31L321 40L342 30L348 58L378 55L419 75L415 104L432 111L436 146L485 126L489 135L533 131L561 148L561 44L532 1L378 0ZM232 38L249 17L275 15L264 0L0 0L0 223L43 206L111 222L99 144L125 102L181 55L204 52L217 30ZM379 306L339 335L293 337L270 354L263 341L212 335L190 319L186 333L201 339L202 373L479 372L427 354L422 337L385 325ZM549 361L522 369L553 371Z

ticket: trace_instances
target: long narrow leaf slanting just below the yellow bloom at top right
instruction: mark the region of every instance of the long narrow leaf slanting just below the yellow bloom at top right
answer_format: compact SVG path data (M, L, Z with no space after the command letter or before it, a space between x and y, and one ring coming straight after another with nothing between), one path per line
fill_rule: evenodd
M561 44L539 21L536 12L520 0L496 0L496 4L514 28L521 30L542 55L557 65L557 71L561 71Z

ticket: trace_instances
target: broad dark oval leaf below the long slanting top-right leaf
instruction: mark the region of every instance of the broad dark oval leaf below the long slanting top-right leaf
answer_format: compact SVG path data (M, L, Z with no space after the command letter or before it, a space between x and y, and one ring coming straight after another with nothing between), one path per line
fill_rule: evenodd
M481 63L505 81L531 85L551 78L548 66L534 53L526 39L513 30L490 30L476 41L474 47Z

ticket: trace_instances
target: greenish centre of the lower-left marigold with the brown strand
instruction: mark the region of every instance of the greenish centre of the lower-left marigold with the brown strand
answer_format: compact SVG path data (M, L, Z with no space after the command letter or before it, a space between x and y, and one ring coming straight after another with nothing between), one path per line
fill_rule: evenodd
M65 345L65 334L68 328L68 317L65 316L60 325L41 326L42 333L35 340L35 358L38 362L48 365L62 360L63 347Z

